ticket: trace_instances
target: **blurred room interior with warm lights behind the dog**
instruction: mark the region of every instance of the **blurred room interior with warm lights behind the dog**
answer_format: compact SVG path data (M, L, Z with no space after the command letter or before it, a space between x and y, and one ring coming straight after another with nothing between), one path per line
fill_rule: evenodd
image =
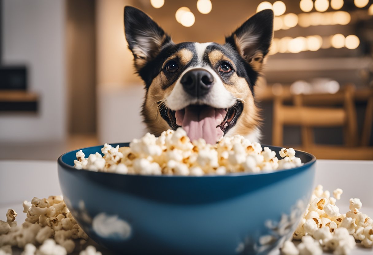
M125 5L174 42L223 43L273 9L274 40L255 91L261 142L373 159L373 0L1 0L0 159L56 160L145 133Z

